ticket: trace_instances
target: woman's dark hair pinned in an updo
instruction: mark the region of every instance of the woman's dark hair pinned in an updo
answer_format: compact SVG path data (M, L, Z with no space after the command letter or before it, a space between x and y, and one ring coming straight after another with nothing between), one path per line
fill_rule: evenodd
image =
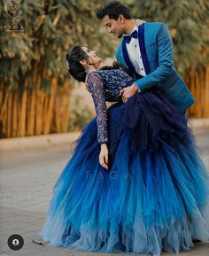
M77 81L85 81L86 79L85 68L79 62L82 59L88 61L88 56L86 52L81 49L81 46L74 46L66 53L67 69Z

